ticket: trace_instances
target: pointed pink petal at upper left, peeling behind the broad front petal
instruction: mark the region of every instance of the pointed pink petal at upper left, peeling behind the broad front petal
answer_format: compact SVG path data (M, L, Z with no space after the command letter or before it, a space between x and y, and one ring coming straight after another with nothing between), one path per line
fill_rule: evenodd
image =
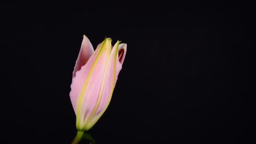
M83 35L83 42L80 48L79 55L77 57L77 61L75 63L73 77L75 77L76 72L79 71L81 67L86 64L93 52L94 50L90 40L85 35Z

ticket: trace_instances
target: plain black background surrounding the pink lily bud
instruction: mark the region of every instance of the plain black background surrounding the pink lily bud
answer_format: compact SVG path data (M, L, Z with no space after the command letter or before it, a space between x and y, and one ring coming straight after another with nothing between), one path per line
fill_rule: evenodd
M83 35L94 48L104 37L128 45L109 107L88 131L96 144L251 140L255 7L134 5L1 6L1 141L72 141L69 92Z

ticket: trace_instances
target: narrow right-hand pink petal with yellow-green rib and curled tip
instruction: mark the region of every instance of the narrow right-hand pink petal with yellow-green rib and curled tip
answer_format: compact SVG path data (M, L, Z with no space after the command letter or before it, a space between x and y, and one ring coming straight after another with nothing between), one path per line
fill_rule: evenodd
M117 82L117 76L118 76L120 70L122 69L122 64L123 64L123 61L125 58L126 47L127 47L126 44L120 44L117 49L118 43L119 42L117 42L114 45L114 47L112 48L112 51L110 53L110 59L109 59L109 64L108 64L108 68L107 68L107 75L106 75L106 79L104 82L101 99L100 99L98 107L96 108L95 113L93 114L93 117L88 121L88 124L86 125L86 129L90 129L91 127L93 127L93 125L99 120L101 115L103 115L103 113L107 109L109 102L111 100L112 93L114 91L115 84ZM123 57L121 59L122 63L120 63L119 55L118 55L118 50L120 51L121 49L124 50ZM114 68L115 68L115 70L114 70ZM115 78L114 78L114 76L115 76Z

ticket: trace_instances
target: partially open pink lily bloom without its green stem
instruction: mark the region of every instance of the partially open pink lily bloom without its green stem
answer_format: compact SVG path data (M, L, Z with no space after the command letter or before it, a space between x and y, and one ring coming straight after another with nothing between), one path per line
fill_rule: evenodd
M122 68L126 44L105 38L96 50L84 35L69 93L78 131L88 131L107 109Z

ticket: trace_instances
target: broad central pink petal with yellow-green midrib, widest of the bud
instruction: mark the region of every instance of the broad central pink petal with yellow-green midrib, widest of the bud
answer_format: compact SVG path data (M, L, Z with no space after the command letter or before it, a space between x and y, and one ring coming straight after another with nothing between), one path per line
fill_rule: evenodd
M104 42L106 45L103 45ZM70 99L77 115L78 130L82 130L99 96L107 56L110 53L109 40L105 39L104 42L96 48L91 58L80 71L76 72L72 80Z

